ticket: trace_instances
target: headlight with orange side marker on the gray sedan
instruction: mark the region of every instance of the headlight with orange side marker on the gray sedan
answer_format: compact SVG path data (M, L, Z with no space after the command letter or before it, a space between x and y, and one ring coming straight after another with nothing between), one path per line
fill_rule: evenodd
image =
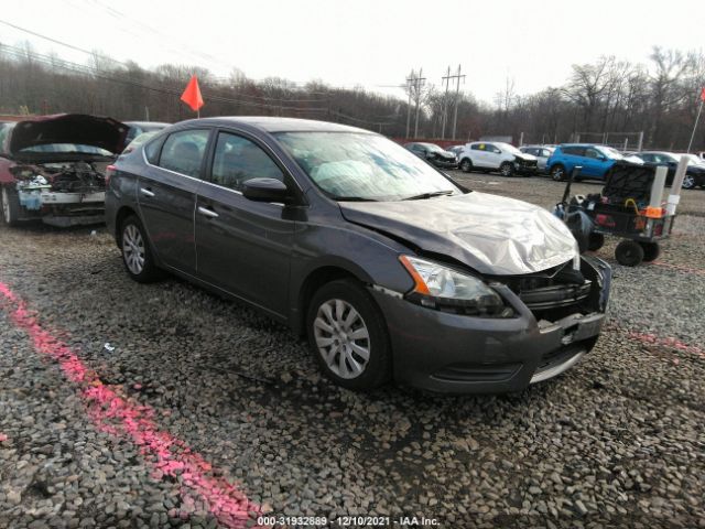
M513 315L500 295L478 278L417 257L401 256L400 261L415 283L406 294L409 301L456 314L494 317Z

